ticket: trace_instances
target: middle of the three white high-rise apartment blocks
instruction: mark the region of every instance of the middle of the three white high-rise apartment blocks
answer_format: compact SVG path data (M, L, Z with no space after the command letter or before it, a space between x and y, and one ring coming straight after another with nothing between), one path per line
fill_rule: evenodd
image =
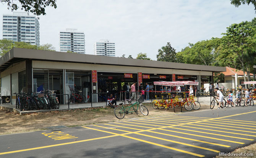
M77 29L66 29L66 31L60 31L59 38L60 51L85 54L84 32Z

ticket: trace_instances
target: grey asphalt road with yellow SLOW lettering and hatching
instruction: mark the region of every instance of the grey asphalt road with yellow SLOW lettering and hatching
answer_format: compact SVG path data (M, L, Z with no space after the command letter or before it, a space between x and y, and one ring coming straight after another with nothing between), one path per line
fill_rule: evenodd
M212 158L254 143L255 116L233 107L2 135L0 158Z

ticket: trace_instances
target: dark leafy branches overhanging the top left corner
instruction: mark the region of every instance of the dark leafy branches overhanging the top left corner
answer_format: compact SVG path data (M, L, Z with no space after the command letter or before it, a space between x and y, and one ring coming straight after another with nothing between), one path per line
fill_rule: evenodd
M34 15L45 15L45 7L52 6L57 8L56 0L0 0L1 3L6 3L8 9L18 10L18 4L21 4L21 10L33 13Z

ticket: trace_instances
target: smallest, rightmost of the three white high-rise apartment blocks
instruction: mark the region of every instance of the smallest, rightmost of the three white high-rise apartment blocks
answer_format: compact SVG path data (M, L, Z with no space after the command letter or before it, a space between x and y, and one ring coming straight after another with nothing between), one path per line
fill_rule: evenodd
M94 55L97 56L115 56L115 43L109 40L100 40L94 43Z

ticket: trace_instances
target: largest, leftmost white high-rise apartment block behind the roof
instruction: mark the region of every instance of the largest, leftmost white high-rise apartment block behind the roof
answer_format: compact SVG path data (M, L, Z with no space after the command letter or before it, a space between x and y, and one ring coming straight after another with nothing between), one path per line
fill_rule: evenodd
M39 22L36 16L30 16L27 12L3 14L3 39L39 46Z

